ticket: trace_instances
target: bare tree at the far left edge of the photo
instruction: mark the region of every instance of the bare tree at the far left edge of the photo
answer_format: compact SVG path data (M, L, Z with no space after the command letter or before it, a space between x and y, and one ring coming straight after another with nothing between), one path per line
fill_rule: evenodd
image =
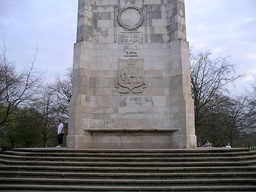
M36 53L31 63L21 72L17 72L15 63L6 58L6 46L3 41L0 50L0 134L7 129L4 127L6 122L19 118L20 111L17 108L28 106L40 91L42 74L33 68L35 59Z

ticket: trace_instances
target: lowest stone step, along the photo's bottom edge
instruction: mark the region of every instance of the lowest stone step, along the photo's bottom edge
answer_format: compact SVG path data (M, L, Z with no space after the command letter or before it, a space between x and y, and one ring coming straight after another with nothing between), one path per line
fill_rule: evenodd
M56 191L256 191L255 185L206 185L206 186L66 186L33 184L0 184L0 189L56 190Z

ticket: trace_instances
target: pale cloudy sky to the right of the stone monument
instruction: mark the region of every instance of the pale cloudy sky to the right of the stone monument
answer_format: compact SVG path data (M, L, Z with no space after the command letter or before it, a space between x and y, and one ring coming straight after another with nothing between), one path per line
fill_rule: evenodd
M232 92L250 90L256 74L256 1L185 0L187 38L197 51L230 56L236 72L246 76Z

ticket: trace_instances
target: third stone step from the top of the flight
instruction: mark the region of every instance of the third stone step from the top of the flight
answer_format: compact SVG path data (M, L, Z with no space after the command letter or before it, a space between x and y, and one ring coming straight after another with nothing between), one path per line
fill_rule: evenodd
M58 162L65 162L65 161L93 161L93 162L100 162L100 161L108 161L108 162L187 162L187 161L212 161L212 157L55 157L55 156L16 156L16 155L1 155L3 159L19 159L19 161L58 161ZM214 157L214 161L252 161L256 160L256 154L251 156L237 156L237 157Z

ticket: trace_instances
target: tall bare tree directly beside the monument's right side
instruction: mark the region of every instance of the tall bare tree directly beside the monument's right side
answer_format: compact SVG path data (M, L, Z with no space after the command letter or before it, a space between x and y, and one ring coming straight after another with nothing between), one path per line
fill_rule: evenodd
M191 91L195 104L195 129L198 141L205 131L202 125L211 116L211 109L216 107L214 95L227 92L227 84L236 81L241 75L234 74L234 65L228 58L211 60L210 52L191 54Z

